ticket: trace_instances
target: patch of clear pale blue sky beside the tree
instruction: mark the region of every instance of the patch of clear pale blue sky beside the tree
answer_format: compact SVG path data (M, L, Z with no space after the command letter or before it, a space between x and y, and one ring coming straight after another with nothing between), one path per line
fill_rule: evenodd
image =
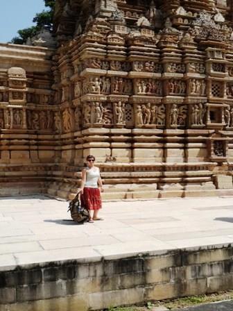
M0 42L9 42L19 29L33 26L36 13L46 10L44 0L0 0Z

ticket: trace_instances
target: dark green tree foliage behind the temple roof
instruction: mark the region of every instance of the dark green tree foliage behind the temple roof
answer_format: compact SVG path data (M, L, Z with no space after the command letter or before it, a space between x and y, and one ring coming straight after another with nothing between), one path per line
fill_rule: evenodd
M42 12L35 15L33 18L33 23L35 23L35 26L19 29L19 31L17 31L18 36L13 37L11 43L25 44L28 37L33 37L38 32L40 32L42 28L49 29L50 31L52 30L55 0L44 0L44 6L46 6L46 8L49 10L43 10Z

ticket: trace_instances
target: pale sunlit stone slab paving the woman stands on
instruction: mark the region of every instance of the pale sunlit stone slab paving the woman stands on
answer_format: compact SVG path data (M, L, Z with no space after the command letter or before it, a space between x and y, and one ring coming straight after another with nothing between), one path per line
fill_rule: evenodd
M45 196L1 198L0 269L233 244L232 197L109 201L104 221L84 225L69 221L67 206Z

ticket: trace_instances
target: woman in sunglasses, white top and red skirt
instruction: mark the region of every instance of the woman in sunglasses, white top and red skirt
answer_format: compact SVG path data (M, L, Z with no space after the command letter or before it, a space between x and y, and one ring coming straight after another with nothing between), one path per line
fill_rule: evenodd
M87 155L86 160L87 167L82 171L80 188L81 203L89 212L89 222L94 222L95 220L103 220L98 217L98 210L102 208L101 192L103 192L103 184L100 170L94 166L96 160L94 155Z

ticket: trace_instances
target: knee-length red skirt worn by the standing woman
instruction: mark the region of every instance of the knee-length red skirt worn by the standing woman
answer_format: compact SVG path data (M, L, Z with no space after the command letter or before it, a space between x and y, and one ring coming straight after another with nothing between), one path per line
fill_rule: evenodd
M85 206L87 210L99 210L102 208L101 192L98 188L85 187L80 199L81 205Z

